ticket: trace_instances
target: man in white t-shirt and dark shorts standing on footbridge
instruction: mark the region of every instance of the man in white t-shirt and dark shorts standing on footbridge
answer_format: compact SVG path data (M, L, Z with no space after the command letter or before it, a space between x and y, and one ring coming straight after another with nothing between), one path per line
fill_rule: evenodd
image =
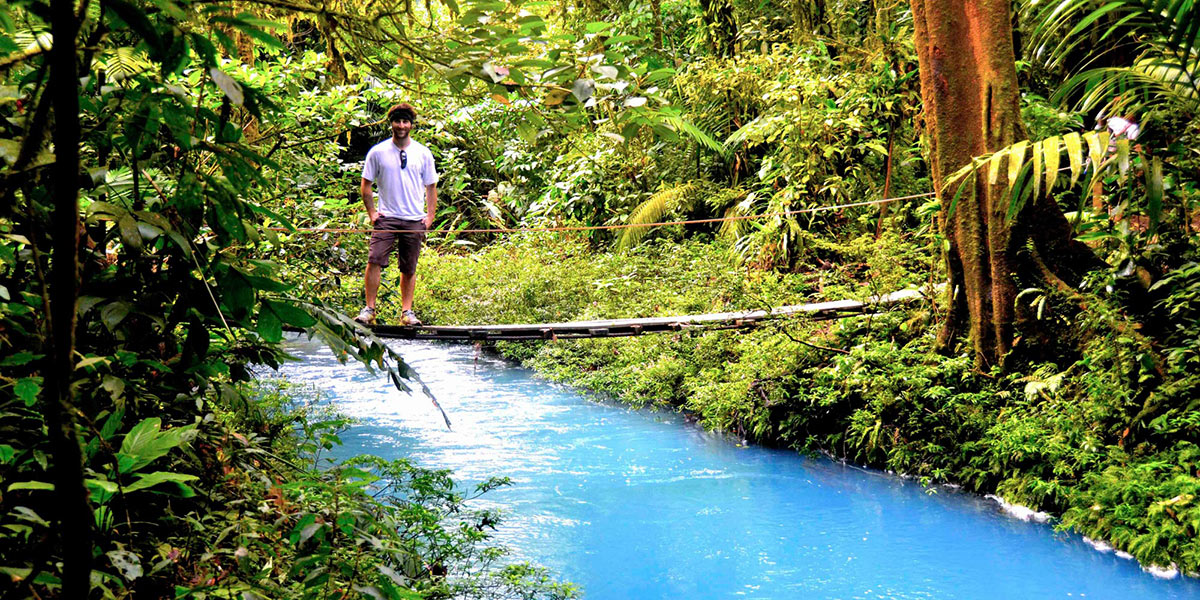
M416 110L406 103L396 104L388 110L388 121L391 124L391 138L372 146L362 164L359 192L374 230L371 233L371 251L362 282L366 306L354 320L374 323L379 276L388 266L392 248L397 248L401 320L404 325L420 325L413 312L416 258L421 253L425 232L433 226L437 214L438 172L430 149L409 137ZM378 210L371 194L372 182L379 187Z

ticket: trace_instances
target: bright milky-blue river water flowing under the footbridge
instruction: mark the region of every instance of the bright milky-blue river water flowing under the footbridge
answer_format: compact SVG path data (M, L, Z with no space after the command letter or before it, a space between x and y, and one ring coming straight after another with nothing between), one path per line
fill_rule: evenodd
M1200 599L992 500L785 450L740 446L674 413L631 410L469 346L398 342L450 415L318 342L284 368L360 420L340 456L408 457L469 486L512 485L496 534L589 600Z

